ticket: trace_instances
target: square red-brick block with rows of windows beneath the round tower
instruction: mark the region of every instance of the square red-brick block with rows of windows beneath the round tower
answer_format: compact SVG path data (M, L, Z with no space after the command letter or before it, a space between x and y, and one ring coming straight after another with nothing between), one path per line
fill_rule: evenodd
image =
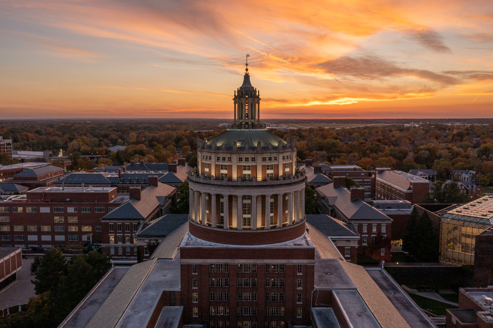
M215 244L187 234L180 272L185 325L311 325L315 246L308 234L255 246Z

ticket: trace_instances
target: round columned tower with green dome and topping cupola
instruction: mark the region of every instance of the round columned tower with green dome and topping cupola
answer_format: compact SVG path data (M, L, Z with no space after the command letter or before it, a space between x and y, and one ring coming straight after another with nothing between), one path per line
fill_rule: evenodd
M236 245L298 238L305 232L306 178L296 168L296 140L283 140L260 122L260 94L247 69L233 100L230 127L197 142L198 167L188 177L189 231Z

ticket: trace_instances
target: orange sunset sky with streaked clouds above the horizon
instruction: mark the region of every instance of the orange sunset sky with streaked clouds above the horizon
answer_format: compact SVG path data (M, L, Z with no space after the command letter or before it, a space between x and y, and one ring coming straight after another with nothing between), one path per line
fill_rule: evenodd
M493 1L2 0L0 118L493 117Z

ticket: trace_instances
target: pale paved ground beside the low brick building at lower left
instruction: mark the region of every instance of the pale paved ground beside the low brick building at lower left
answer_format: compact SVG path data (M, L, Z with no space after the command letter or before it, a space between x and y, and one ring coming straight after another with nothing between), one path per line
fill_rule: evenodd
M33 258L22 259L22 268L17 272L17 280L11 283L0 291L0 309L8 306L26 304L29 298L36 296L34 285L31 280L34 275L31 275L31 263Z

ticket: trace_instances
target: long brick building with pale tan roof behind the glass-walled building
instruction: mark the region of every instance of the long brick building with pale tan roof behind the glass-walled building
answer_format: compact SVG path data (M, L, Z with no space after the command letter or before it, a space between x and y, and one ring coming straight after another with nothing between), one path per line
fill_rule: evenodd
M376 200L403 200L424 203L430 181L402 171L376 168Z

